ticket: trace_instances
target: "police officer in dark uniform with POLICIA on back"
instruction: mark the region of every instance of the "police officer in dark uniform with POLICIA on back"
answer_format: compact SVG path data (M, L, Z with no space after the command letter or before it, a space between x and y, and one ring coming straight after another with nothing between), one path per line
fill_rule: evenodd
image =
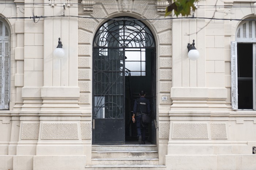
M132 121L133 123L136 122L139 144L145 144L146 125L141 123L141 113L150 114L150 103L149 100L145 98L145 92L143 90L140 91L140 97L135 100Z

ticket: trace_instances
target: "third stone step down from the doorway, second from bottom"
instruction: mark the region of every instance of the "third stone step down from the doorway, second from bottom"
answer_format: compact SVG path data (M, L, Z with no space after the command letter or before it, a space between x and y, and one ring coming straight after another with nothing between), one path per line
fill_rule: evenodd
M91 165L158 165L158 158L105 158L91 159Z

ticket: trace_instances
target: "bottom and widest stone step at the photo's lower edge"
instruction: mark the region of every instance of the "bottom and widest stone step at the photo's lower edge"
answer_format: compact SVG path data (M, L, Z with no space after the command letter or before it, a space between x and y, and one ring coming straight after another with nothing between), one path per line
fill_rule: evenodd
M166 170L164 165L94 165L85 168L86 170Z

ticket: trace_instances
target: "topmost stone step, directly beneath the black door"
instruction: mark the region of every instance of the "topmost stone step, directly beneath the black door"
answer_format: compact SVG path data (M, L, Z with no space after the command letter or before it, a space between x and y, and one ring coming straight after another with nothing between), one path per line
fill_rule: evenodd
M157 151L154 144L93 145L92 151Z

